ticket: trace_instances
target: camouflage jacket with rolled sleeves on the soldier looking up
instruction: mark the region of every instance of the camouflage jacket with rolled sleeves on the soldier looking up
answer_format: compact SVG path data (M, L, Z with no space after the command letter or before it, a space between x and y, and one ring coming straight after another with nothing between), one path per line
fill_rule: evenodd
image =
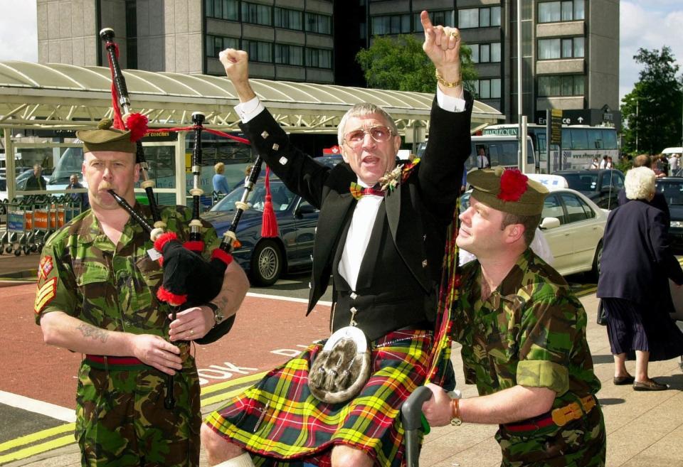
M480 395L522 385L557 393L553 408L600 390L586 341L586 311L566 281L526 249L487 300L479 262L462 271L453 339L465 380Z

